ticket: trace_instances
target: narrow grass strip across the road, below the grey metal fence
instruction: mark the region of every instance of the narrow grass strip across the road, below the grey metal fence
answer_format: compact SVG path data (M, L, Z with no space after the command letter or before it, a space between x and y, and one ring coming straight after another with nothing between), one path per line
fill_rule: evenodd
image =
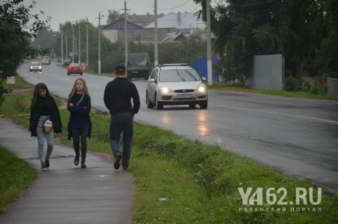
M240 87L230 87L230 86L227 86L227 85L224 85L224 84L219 84L219 83L213 83L212 86L208 86L208 89L246 92L246 93L259 93L259 94L267 94L267 95L275 95L275 96L287 96L287 97L296 97L296 98L338 100L337 97L328 96L328 95L317 95L317 94L310 94L310 93L304 93L304 92L292 92L292 91L247 89L247 88L240 88Z

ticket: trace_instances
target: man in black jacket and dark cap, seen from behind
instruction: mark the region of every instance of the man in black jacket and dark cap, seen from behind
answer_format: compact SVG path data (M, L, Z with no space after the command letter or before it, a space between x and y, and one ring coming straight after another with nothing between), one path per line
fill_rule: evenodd
M123 170L128 170L131 139L133 135L134 115L140 109L140 97L134 83L126 79L126 67L118 64L115 67L116 78L109 82L104 90L104 104L111 114L110 144L114 154L114 167L119 169L122 157ZM134 104L131 107L131 98ZM123 155L121 155L119 141L123 131Z

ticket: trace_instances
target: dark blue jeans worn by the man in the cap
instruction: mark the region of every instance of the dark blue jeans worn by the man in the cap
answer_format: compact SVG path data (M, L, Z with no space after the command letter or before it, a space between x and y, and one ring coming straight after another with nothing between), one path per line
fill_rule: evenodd
M133 135L133 114L129 112L120 112L111 115L110 121L110 145L114 157L120 152L120 135L123 131L123 153L122 167L128 167L131 151L131 139Z

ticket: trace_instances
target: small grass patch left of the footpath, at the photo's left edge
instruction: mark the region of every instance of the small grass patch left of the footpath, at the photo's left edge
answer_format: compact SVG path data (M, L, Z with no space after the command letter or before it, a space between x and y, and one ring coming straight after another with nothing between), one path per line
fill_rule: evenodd
M22 191L35 178L37 172L26 161L0 147L0 214L6 210L8 203L22 196Z

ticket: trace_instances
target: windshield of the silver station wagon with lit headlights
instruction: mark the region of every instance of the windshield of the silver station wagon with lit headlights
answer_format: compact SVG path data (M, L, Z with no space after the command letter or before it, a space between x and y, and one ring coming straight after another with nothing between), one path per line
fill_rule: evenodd
M192 69L161 70L160 82L200 81L198 74Z

